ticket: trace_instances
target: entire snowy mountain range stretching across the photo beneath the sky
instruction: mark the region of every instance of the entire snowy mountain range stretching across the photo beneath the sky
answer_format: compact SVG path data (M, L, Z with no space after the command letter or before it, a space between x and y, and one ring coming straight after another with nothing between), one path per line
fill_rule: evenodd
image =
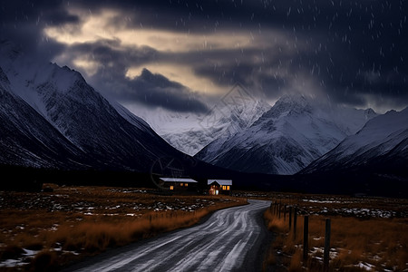
M154 131L80 73L0 42L0 166L109 170L115 180L116 171L146 173L158 161L161 170L178 161L202 182L218 177L248 188L369 190L373 179L378 193L382 180L406 186L408 109L379 115L305 94L284 95L272 107L247 98L203 115L161 112L150 119ZM181 146L190 154L203 148L191 157Z

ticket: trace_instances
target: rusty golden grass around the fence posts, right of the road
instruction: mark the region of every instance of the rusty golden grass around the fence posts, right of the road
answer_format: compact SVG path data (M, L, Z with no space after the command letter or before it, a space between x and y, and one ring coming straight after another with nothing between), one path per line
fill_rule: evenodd
M370 205L375 204L371 202ZM359 202L358 206L363 207L363 203ZM303 213L308 212L306 205L299 209ZM277 264L276 255L279 251L283 254L280 265L287 267L288 271L322 271L326 216L309 216L309 257L306 263L302 260L304 217L297 216L296 238L293 225L289 231L288 218L284 219L282 216L278 219L273 209L267 209L264 218L267 228L277 235L265 260L267 265ZM358 267L360 263L373 266L377 271L408 270L408 219L356 218L339 215L330 218L332 227L330 271L365 271L364 268Z

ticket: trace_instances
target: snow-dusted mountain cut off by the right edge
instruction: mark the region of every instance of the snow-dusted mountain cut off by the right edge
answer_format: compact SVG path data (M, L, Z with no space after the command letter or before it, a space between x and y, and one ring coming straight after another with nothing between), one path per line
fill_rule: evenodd
M390 111L368 121L361 131L348 136L334 150L300 173L369 169L408 170L408 108Z

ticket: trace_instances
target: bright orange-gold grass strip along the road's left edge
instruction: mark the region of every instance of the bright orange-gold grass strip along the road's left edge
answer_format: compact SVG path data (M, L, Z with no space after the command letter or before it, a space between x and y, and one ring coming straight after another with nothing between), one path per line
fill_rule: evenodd
M146 214L141 219L123 219L115 222L83 222L75 226L62 226L54 232L44 233L43 240L62 245L64 250L101 252L106 248L123 246L141 238L189 227L199 222L214 209L197 212L170 212ZM50 246L51 246L50 245Z

